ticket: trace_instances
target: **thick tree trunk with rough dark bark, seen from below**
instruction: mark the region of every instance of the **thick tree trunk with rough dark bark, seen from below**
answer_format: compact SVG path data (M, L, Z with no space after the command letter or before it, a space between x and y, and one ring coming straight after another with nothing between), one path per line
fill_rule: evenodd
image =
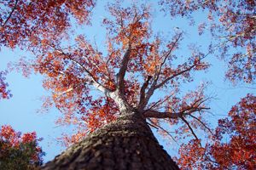
M139 114L120 116L42 167L48 169L179 169Z

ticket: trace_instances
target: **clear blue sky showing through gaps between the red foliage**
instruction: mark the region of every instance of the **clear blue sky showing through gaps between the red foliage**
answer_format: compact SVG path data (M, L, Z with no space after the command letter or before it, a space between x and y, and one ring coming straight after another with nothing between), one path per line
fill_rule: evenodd
M102 3L102 1L100 1ZM92 18L92 26L79 28L77 31L85 33L87 37L95 39L99 48L103 48L104 45L104 29L101 27L101 20L107 14L104 11L103 5L99 4L94 9L94 15ZM183 44L189 42L197 42L202 45L202 48L206 48L206 44L209 43L209 37L207 35L203 37L197 36L197 27L188 26L187 21L184 19L170 20L164 17L163 14L159 14L157 10L154 10L154 31L165 31L166 34L172 32L173 29L178 26L186 30L187 34ZM203 20L201 15L197 14L197 20ZM178 54L186 55L187 50L183 45ZM10 50L9 48L1 48L0 51L0 71L7 68L7 64L10 61L17 61L20 56L30 56L31 54L26 51L20 51L20 49ZM219 118L224 117L230 110L232 105L235 105L241 97L244 97L247 93L253 93L253 88L247 84L241 84L236 87L232 87L230 82L224 81L224 71L226 66L224 61L216 59L214 56L209 56L207 59L211 64L211 68L207 72L201 72L195 75L195 82L183 85L183 91L193 90L200 82L212 82L207 88L207 94L214 97L211 100L211 112L209 114L208 121L212 122L214 127ZM44 140L40 142L43 150L46 152L44 161L49 161L54 156L60 154L61 150L65 150L61 143L58 142L58 137L61 137L61 133L70 130L70 127L57 127L55 125L56 117L60 116L60 111L53 108L48 113L38 113L42 102L40 98L49 94L42 87L43 77L40 75L33 75L30 78L22 77L20 72L12 71L7 76L7 82L9 82L9 89L13 94L11 99L0 100L0 125L9 124L15 128L15 130L22 133L35 131L38 133L38 137L43 137ZM255 91L255 90L254 90ZM157 135L158 136L158 135ZM158 136L159 137L159 136ZM166 144L164 140L158 138L161 144L164 144L165 149L169 154L177 154L177 144Z

